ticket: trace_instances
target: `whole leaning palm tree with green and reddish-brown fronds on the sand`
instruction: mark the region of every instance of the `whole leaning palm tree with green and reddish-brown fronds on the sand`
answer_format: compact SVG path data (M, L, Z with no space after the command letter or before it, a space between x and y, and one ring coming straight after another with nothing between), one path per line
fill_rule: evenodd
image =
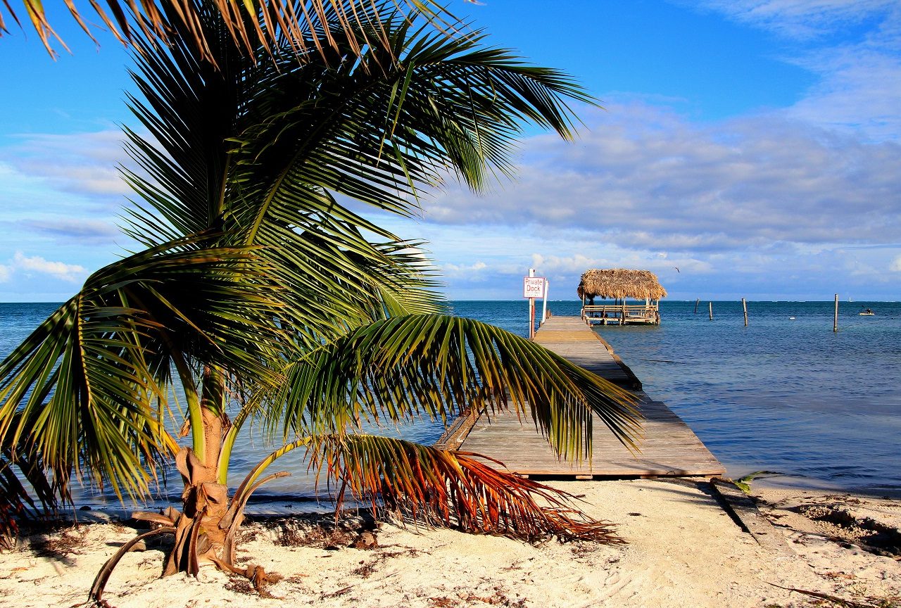
M298 448L341 495L374 507L528 540L611 539L565 493L363 431L528 403L562 457L585 458L593 413L627 443L636 413L629 394L551 351L442 314L419 243L341 203L407 215L449 174L479 189L510 171L523 122L569 138L564 99L591 99L560 72L478 33L436 32L390 0L350 33L324 11L312 29L335 46L304 61L288 41L249 55L218 12L194 6L214 60L175 14L171 47L138 42L146 101L130 103L150 137L127 131L140 173L125 172L137 193L126 231L145 249L89 277L0 364L2 448L24 442L64 501L73 475L145 495L174 459L182 509L138 514L176 537L164 574L204 560L234 569L244 505L272 477L266 467ZM357 56L352 39L377 22L387 45ZM165 426L176 387L184 444ZM230 493L232 449L255 420L283 445Z

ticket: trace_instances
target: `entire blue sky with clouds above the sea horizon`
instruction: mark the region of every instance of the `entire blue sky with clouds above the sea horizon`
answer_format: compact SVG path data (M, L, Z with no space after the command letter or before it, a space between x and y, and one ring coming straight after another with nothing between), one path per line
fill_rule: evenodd
M0 301L59 301L123 253L127 51L63 14L73 54L0 38ZM649 268L677 299L901 299L901 7L882 0L452 0L498 46L602 100L574 143L525 132L518 175L414 221L453 299L528 268ZM678 271L677 269L678 268Z

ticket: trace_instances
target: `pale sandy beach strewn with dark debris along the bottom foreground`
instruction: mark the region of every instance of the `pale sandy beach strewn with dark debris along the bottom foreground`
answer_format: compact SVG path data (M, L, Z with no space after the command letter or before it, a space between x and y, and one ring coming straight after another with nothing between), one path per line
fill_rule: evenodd
M627 544L532 546L516 540L382 524L378 547L354 549L351 531L298 544L290 518L246 527L239 560L285 576L273 597L205 568L159 579L163 552L127 555L106 588L118 608L150 606L805 606L794 587L862 605L901 605L901 501L807 488L760 487L760 511L790 548L761 547L707 484L554 482L584 495L588 513L618 524ZM892 534L895 536L892 536ZM0 606L82 603L98 568L134 531L116 522L23 540L0 554ZM48 542L49 540L49 542ZM885 554L864 548L881 544ZM892 545L895 549L889 549ZM358 545L364 544L357 542ZM882 601L883 603L878 603ZM887 603L895 602L895 603Z

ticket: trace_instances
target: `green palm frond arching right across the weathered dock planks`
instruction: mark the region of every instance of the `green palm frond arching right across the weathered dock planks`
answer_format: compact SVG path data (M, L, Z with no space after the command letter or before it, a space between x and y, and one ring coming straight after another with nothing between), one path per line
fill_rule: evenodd
M266 418L287 436L392 423L447 422L472 407L523 412L564 458L591 453L592 414L625 445L640 427L635 397L551 350L471 319L407 315L350 331L288 365Z

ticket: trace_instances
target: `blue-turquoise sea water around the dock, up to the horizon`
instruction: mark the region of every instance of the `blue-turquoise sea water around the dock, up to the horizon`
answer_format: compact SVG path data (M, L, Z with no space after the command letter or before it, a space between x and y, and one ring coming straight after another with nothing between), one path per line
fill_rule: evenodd
M665 300L660 326L597 331L633 368L645 391L678 413L730 476L767 469L784 474L772 478L777 483L901 495L901 304L842 302L837 333L832 302L750 302L747 328L740 302L713 305L713 321L706 302L694 313L694 302ZM453 306L460 316L528 332L523 301ZM864 306L876 315L860 316ZM578 315L579 303L550 307L555 314ZM55 308L0 304L0 357ZM441 427L425 421L399 432L431 442ZM258 435L242 438L232 483L268 453ZM293 475L261 489L258 510L315 505L309 500L313 478L301 454L274 468ZM177 498L178 485L161 488L160 501ZM76 502L115 506L114 499L92 488L81 488Z

